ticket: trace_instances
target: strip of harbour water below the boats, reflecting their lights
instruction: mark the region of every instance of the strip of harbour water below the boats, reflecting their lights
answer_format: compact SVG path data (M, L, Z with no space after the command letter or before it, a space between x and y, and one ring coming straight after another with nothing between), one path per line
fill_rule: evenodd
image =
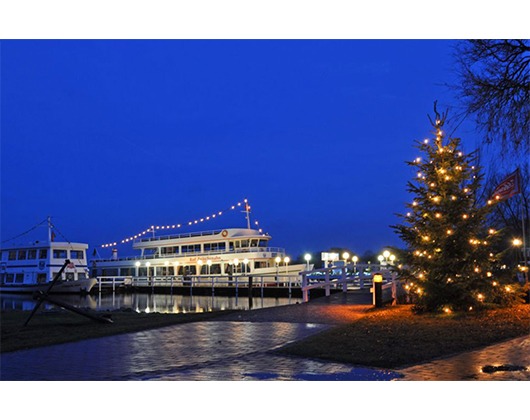
M88 296L56 295L61 300L78 308L96 311L133 310L136 312L190 313L213 312L231 309L248 310L301 303L301 298L236 296L190 296L149 293L108 293ZM31 311L36 301L31 295L2 294L0 307L3 311ZM42 309L53 309L55 305L43 303Z

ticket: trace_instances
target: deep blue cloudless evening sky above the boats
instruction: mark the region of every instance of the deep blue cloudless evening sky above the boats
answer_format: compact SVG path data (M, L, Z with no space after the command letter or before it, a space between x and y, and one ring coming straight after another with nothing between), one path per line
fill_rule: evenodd
M453 45L3 41L2 240L51 215L93 248L246 197L292 257L399 246L404 162L430 135L433 102L458 105ZM475 148L472 129L455 135ZM229 213L193 230L245 226Z

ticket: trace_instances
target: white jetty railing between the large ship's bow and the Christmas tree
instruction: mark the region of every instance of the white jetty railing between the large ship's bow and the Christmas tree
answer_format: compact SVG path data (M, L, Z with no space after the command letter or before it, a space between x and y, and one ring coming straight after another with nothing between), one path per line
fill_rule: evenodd
M309 301L310 292L314 289L324 289L325 295L329 296L331 290L341 289L360 290L371 287L374 274L383 276L383 293L388 294L388 290L394 294L393 285L396 285L397 275L392 270L391 265L383 264L348 264L328 268L317 268L310 271L303 271L302 275L302 300Z

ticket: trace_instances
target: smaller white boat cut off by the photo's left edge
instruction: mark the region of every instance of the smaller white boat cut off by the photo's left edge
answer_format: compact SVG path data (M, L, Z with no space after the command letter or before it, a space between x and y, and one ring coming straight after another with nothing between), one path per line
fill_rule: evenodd
M0 248L1 293L46 291L66 260L70 264L50 293L89 293L96 284L88 275L88 244L55 242L49 218L47 223L47 240Z

